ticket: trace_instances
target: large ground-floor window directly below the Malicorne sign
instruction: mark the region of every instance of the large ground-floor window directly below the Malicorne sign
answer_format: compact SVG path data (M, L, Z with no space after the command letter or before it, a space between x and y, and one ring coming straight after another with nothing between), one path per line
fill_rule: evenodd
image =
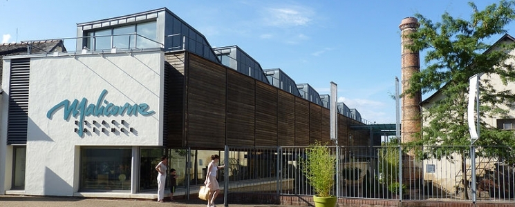
M130 190L131 148L82 148L81 190Z

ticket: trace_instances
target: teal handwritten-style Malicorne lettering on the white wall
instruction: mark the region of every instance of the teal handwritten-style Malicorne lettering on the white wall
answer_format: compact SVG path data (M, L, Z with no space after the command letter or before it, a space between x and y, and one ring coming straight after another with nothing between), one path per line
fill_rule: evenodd
M53 114L59 110L60 108L64 108L63 112L63 119L68 120L70 119L70 115L73 117L79 116L79 136L82 137L83 135L83 129L84 129L84 117L89 116L138 116L138 114L143 116L149 116L153 115L155 112L153 110L149 110L149 105L147 103L140 103L140 104L133 104L125 103L123 106L115 106L113 103L109 103L109 101L105 100L107 90L102 90L100 93L100 96L98 97L97 104L89 103L88 99L82 98L82 100L79 102L79 100L75 99L72 103L70 103L70 100L66 99L64 101L61 101L61 103L57 103L54 107L50 108L48 112L46 112L46 117L48 119L51 119ZM102 106L102 103L105 103L105 106Z

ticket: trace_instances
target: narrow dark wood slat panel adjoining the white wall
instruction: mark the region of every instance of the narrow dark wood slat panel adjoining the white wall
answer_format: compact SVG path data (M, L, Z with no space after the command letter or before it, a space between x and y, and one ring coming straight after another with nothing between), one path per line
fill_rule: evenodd
M184 145L184 84L185 53L165 55L165 135L166 146L177 148Z

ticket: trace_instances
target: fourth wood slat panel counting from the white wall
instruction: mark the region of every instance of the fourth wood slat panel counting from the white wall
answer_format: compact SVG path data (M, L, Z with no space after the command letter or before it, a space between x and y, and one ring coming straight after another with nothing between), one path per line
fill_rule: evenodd
M256 81L256 146L277 146L277 88Z

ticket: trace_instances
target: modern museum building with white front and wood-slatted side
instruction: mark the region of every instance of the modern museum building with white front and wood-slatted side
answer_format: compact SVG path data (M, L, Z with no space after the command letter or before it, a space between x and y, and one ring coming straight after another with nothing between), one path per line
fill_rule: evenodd
M238 46L212 48L167 8L12 46L24 50L0 46L0 194L138 197L157 189L161 155L179 187L194 186L225 146L330 141L331 97ZM337 105L340 145L379 140ZM255 167L277 170L272 160Z

